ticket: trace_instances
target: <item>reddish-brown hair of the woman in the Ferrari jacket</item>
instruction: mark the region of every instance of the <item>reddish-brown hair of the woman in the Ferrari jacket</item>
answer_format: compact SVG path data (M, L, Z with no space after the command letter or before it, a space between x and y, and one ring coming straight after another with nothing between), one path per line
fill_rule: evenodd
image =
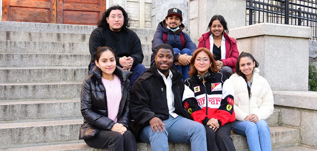
M211 67L208 68L208 71L209 72L213 72L213 73L216 73L218 72L218 69L217 69L217 64L216 64L216 61L214 59L214 55L210 52L209 49L207 48L198 48L197 50L195 50L193 56L191 57L191 69L189 70L188 74L190 77L192 76L195 76L196 74L198 74L198 71L197 69L194 67L195 65L195 59L198 55L198 53L204 51L205 53L207 53L209 59L210 59L210 62L211 62ZM202 75L204 76L204 75Z

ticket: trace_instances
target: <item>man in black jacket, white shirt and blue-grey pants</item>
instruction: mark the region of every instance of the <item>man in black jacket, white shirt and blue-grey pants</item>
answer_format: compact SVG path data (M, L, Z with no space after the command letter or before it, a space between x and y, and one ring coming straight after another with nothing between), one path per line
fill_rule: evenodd
M207 150L204 126L190 120L182 107L184 83L179 71L172 67L173 48L161 44L155 64L133 85L130 111L137 123L140 140L151 144L153 151L168 151L168 142L191 143L191 150Z

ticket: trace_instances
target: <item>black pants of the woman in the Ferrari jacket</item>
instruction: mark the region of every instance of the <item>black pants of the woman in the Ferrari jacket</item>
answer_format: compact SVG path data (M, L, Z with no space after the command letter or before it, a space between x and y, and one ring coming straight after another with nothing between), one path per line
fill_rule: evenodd
M230 137L231 125L226 123L220 126L215 132L209 126L204 125L207 136L207 150L208 151L235 151L232 138Z

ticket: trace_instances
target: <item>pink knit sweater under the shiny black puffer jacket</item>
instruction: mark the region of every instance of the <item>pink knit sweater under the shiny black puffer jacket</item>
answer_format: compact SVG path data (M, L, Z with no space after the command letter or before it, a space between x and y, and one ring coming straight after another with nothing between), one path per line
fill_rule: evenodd
M102 77L101 81L106 88L108 118L117 123L117 115L122 96L120 79L116 75L114 75L112 81L106 80Z

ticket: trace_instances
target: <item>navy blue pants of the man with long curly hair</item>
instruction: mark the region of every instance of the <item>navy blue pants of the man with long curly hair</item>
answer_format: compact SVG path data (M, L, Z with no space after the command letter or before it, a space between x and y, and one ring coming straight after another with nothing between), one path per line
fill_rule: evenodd
M94 66L95 66L94 62L90 63L89 75L92 73L92 70L93 70ZM117 66L122 67L120 65L117 65ZM133 86L134 81L137 78L139 78L142 73L144 73L146 71L146 68L142 64L138 63L135 66L132 66L130 71L132 73L130 74L128 79L130 80L130 90L132 90L132 86Z

